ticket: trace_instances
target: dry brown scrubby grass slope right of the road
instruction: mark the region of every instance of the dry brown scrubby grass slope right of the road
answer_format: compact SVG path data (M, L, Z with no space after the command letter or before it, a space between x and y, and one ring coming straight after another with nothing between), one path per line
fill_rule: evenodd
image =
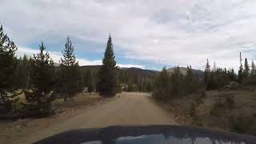
M194 94L169 106L183 125L256 135L256 90L211 90L205 97Z

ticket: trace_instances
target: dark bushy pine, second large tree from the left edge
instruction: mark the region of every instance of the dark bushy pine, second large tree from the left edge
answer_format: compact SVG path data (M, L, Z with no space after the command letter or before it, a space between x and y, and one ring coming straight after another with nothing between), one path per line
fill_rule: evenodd
M30 89L25 91L27 112L30 116L46 116L53 112L50 102L54 100L54 62L45 52L46 47L39 46L40 52L34 54L30 70Z

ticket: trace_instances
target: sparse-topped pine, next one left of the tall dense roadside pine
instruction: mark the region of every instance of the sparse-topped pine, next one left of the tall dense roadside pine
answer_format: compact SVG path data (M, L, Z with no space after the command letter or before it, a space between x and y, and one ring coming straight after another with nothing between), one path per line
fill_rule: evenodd
M64 50L62 50L63 58L61 58L60 75L58 78L59 86L64 93L64 101L81 91L83 85L79 71L78 61L74 56L74 46L69 37L66 38ZM82 86L82 87L81 87Z

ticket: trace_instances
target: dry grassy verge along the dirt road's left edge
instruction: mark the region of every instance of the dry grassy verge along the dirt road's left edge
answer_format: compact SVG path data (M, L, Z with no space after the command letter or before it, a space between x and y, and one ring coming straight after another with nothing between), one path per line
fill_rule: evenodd
M20 95L19 102L25 102L24 95ZM104 100L105 101L105 100ZM0 143L19 139L37 130L43 130L54 122L62 122L67 118L81 114L89 106L102 102L98 94L78 94L76 97L63 102L63 99L54 100L56 114L47 118L25 118L17 121L0 121Z

